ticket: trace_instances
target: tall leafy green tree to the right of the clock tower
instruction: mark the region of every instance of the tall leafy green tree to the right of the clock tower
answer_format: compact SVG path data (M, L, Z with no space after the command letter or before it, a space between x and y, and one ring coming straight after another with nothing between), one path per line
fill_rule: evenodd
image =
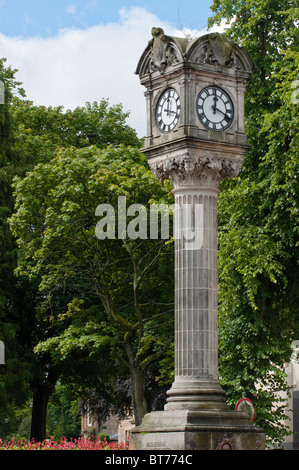
M284 365L298 337L298 8L286 0L214 0L210 25L255 62L247 86L251 144L219 197L220 375L230 402L245 391L269 440L283 441Z

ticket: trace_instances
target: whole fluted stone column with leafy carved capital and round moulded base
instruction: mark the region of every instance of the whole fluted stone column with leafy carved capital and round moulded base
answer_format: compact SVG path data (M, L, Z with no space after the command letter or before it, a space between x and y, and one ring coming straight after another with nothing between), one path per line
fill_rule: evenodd
M175 380L165 410L226 407L218 383L217 197L241 162L185 152L151 165L175 196Z

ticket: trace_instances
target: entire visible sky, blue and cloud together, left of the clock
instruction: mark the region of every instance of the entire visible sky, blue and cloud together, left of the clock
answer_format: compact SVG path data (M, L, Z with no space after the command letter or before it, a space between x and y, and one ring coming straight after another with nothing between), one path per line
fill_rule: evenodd
M151 29L197 37L213 0L0 0L0 57L36 105L74 109L108 99L146 134L145 89L135 75ZM223 27L215 28L223 31Z

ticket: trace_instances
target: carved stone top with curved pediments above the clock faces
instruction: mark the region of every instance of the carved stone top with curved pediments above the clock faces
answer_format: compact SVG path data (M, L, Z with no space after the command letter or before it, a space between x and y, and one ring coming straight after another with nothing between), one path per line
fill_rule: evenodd
M171 73L178 67L249 75L254 68L246 49L221 33L209 33L189 41L153 28L152 36L137 66L136 74L140 78Z

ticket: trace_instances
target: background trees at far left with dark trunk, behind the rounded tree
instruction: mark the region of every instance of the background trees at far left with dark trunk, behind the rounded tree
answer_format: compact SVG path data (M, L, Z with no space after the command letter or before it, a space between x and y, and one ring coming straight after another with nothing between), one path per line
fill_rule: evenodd
M15 71L5 68L4 62L0 64L6 92L5 105L0 106L0 335L6 346L6 365L0 376L1 406L9 407L12 397L21 404L33 393L31 437L43 440L47 402L61 368L53 367L46 354L34 353L36 344L47 337L40 309L45 299L38 292L38 280L15 275L18 248L7 222L14 206L12 180L22 179L38 163L49 162L61 147L84 148L91 143L100 147L121 141L139 147L140 140L126 125L127 114L122 107L110 107L107 100L87 103L74 111L34 106L21 98L24 92L14 79ZM60 295L64 300L72 298L72 293L65 294L63 289Z

